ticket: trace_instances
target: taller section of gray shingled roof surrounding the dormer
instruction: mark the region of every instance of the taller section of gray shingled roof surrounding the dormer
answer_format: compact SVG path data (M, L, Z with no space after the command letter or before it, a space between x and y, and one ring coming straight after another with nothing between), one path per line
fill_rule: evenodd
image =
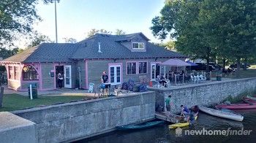
M146 43L146 52L132 52L119 41L129 40L138 34L128 35L108 35L96 34L89 39L85 39L80 43L82 46L74 53L72 58L157 58L157 57L186 57L181 53L176 53L170 50L165 50L164 47L153 45L150 42ZM142 36L144 36L142 34ZM146 37L146 36L145 36ZM148 40L146 38L146 40ZM100 42L102 53L98 53L98 42Z

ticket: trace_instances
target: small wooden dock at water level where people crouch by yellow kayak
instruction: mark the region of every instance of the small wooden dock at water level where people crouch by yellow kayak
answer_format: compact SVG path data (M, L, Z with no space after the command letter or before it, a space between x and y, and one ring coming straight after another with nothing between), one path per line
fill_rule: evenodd
M156 112L155 113L156 118L160 120L165 120L170 123L179 123L181 119L183 119L182 116L174 115L174 114L168 114L165 112Z

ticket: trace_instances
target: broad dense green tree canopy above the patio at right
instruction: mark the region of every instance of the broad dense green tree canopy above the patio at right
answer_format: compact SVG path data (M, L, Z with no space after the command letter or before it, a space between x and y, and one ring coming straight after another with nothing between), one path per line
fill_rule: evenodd
M167 0L152 20L154 36L176 38L176 48L194 58L224 60L255 53L255 1ZM208 62L207 62L208 63Z

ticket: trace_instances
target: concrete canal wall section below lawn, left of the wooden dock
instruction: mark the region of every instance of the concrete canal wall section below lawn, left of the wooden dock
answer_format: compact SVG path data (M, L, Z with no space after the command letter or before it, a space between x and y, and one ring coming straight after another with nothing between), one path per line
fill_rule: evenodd
M36 123L38 142L65 142L154 119L155 93L131 93L12 113Z

